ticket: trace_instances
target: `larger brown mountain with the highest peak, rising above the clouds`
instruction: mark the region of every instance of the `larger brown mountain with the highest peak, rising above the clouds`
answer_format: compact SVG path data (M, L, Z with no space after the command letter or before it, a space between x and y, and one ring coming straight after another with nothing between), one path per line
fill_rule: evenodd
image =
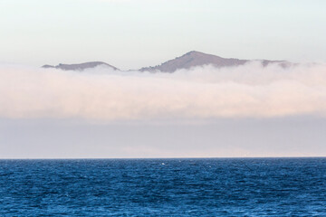
M186 54L175 58L174 60L166 61L160 65L154 67L141 68L139 71L162 71L162 72L174 72L180 69L190 69L196 66L202 65L213 65L217 68L221 67L232 67L239 66L247 63L249 60L239 60L239 59L226 59L212 54L206 54L204 52L187 52ZM267 61L259 60L262 62L263 66L270 63L280 63L283 67L286 67L289 62L287 61Z

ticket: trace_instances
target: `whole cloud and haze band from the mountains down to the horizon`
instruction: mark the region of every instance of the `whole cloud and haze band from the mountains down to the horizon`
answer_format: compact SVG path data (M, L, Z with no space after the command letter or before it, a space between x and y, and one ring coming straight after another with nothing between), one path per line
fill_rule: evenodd
M1 65L0 158L326 156L325 73Z

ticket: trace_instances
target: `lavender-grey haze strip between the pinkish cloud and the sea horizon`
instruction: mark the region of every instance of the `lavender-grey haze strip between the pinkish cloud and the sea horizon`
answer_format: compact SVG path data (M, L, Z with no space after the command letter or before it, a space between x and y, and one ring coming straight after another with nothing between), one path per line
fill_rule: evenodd
M97 125L0 118L0 158L326 156L326 119Z

